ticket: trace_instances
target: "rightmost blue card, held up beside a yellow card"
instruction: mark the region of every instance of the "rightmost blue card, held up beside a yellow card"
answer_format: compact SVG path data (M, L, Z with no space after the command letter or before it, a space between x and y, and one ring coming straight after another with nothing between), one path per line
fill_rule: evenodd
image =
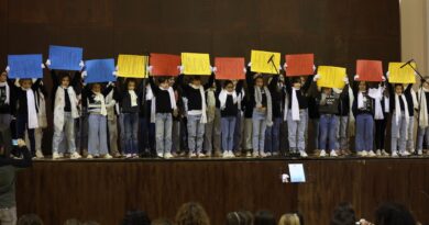
M113 76L113 58L87 60L85 61L85 65L87 71L87 77L85 78L86 83L109 82L117 80Z

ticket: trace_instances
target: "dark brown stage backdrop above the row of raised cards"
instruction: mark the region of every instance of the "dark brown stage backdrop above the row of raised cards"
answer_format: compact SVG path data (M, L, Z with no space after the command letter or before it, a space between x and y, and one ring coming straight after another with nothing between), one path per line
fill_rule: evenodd
M249 60L252 48L315 53L317 65L348 67L350 76L356 59L387 67L400 58L397 0L0 0L0 66L8 54L46 59L50 44L81 46L86 59L201 52Z

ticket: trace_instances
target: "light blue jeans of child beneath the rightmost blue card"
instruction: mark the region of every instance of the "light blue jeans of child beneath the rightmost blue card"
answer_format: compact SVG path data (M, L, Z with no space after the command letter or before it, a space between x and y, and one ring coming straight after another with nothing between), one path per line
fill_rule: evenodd
M101 114L89 114L88 116L88 154L92 156L106 155L109 153L107 139L107 121Z

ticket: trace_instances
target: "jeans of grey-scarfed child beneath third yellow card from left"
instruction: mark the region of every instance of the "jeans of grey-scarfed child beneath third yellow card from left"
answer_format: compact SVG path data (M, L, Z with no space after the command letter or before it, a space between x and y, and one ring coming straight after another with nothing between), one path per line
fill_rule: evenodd
M252 135L253 153L258 153L260 150L263 151L265 146L266 112L260 112L256 109L254 109L252 115L252 122L253 122L253 135Z

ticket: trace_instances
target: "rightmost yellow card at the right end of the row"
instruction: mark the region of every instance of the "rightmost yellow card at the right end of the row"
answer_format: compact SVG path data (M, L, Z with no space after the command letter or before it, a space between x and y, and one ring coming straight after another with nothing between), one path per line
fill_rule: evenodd
M392 83L415 83L415 71L410 66L416 68L416 63L411 63L400 68L404 63L389 63L388 64L388 81Z

